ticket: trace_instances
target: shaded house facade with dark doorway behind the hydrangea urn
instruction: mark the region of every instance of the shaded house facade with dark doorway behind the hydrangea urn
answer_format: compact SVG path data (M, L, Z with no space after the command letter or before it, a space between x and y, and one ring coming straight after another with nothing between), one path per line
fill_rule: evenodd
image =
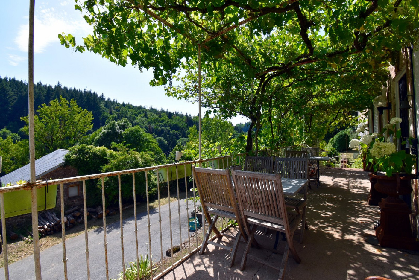
M393 57L393 65L388 67L389 75L386 86L382 88L382 95L387 99L388 106L382 114L375 107L369 110L369 131L380 132L391 118L399 117L401 136L412 137L414 144L411 147L402 146L406 152L416 155L418 162L418 131L419 131L419 42L406 46ZM416 164L414 172L419 174ZM403 200L411 207L410 215L412 230L415 235L419 231L419 191L418 180L412 180L413 192L406 195Z

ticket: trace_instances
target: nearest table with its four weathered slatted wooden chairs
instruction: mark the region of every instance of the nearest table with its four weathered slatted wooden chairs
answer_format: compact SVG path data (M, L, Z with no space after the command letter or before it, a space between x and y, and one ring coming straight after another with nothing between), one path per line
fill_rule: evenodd
M274 167L276 174L273 174ZM243 239L246 241L246 249L241 261L241 270L245 268L246 260L249 258L279 269L279 279L283 279L289 253L297 263L300 263L292 237L301 224L300 243L302 243L307 226L305 222L309 181L307 159L273 160L272 157L248 157L245 169L250 171L240 169L241 167L231 168L233 180L228 169L200 167L192 169L202 211L210 223L199 253L203 254L208 244L227 249L231 252L229 262L231 267L234 264L238 244ZM303 190L303 198L285 196L285 194L295 195L300 190ZM219 217L237 221L236 236L221 233L217 229L216 221ZM263 247L254 238L258 226L281 232L287 239L282 261L277 266L249 254L252 244L257 248ZM218 237L217 242L209 240L212 232ZM228 247L221 244L222 236L233 239L233 245ZM269 250L278 252L276 247L274 250Z

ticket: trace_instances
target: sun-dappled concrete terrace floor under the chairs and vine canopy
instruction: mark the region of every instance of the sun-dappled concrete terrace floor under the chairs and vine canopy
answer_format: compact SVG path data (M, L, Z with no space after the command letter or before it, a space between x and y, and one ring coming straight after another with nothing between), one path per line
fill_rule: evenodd
M378 206L367 203L370 189L367 172L351 169L326 169L321 174L321 187L309 190L307 221L303 244L294 243L301 263L290 256L285 279L295 280L355 280L379 275L392 280L419 279L419 254L383 248L365 242L375 234L374 221L380 218ZM233 229L234 230L234 229ZM272 246L275 234L260 231L260 243ZM223 238L223 240L226 240ZM279 250L285 241L279 245ZM240 270L245 244L239 249L233 267L228 267L228 251L209 245L203 255L194 254L169 272L164 280L270 280L278 279L279 271L248 259ZM266 262L279 263L282 254L251 248L251 254L264 257Z

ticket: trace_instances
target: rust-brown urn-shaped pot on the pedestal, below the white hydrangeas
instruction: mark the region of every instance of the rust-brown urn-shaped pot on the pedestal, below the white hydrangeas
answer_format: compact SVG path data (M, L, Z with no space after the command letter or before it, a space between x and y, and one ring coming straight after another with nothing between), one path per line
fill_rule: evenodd
M416 178L412 174L405 176L396 174L392 177L370 174L370 177L377 180L374 185L375 190L388 195L385 201L389 203L403 203L398 196L411 193L413 189L410 181Z

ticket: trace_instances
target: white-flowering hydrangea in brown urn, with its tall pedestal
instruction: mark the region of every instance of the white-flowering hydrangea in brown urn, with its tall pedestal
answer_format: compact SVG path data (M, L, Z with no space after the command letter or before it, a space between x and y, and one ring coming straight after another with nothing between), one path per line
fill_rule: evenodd
M399 198L412 192L411 180L416 178L412 167L416 156L406 150L397 150L397 144L411 144L411 138L402 139L401 129L396 129L401 118L392 118L383 131L372 140L367 154L367 160L374 162L375 174L370 178L377 180L374 188L388 195L380 203L380 226L375 235L383 247L397 249L419 249L411 233L409 215L411 209ZM407 145L406 145L407 146Z

